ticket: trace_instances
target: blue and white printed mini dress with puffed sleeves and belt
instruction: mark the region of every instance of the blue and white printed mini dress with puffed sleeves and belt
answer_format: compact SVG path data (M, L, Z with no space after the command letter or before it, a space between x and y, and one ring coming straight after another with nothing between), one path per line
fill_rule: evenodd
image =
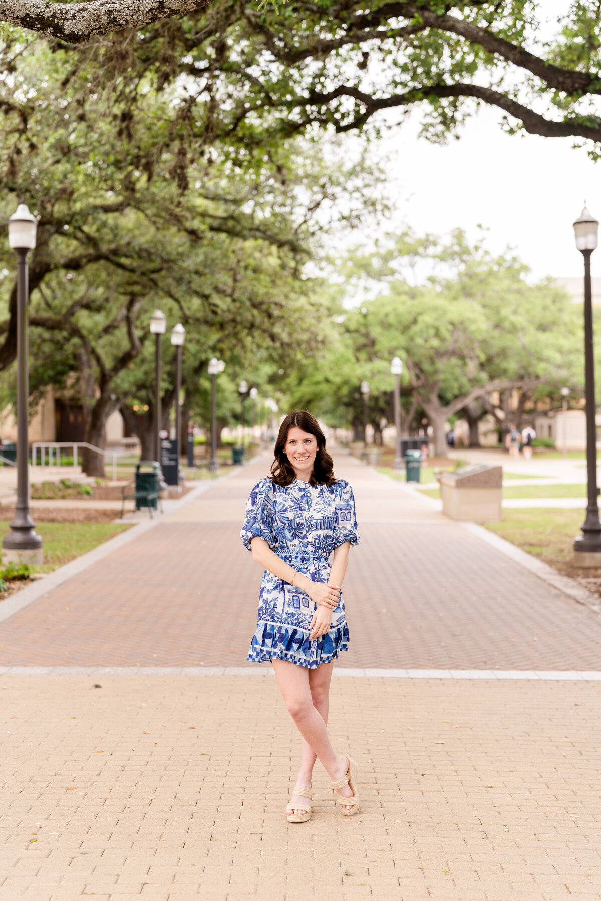
M327 582L329 557L344 542L357 544L355 499L348 482L309 485L296 479L281 486L261 478L250 492L241 539L250 551L253 538L263 538L272 551L314 582ZM332 626L310 639L316 604L300 588L266 569L260 587L259 621L248 660L291 660L314 669L349 649L349 629L342 595L332 612Z

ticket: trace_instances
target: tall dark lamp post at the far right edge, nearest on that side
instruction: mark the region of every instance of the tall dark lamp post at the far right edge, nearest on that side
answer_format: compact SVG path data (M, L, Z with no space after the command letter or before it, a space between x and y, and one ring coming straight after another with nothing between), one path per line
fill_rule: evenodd
M581 567L601 567L601 523L596 487L596 406L595 357L593 348L593 298L590 283L590 255L596 248L599 223L583 209L574 223L576 246L584 257L584 349L585 396L587 400L587 518L582 534L574 539L574 563Z

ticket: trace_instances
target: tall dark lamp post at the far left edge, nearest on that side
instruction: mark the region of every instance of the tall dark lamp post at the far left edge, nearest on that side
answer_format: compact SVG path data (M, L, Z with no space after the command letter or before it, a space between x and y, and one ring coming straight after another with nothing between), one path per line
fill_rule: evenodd
M29 512L29 366L27 360L27 254L35 247L38 221L25 204L8 220L8 244L17 255L17 501L11 531L2 540L6 562L41 564L41 536ZM43 451L42 451L43 452Z

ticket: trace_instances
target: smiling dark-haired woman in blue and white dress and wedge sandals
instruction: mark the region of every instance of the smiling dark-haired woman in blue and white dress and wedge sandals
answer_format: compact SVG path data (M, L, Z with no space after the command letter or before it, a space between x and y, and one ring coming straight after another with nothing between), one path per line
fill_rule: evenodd
M332 779L342 814L355 814L358 767L348 754L334 751L325 724L333 660L349 647L341 584L359 534L351 486L334 478L332 457L311 414L291 413L281 424L271 478L261 478L250 492L241 539L265 568L248 659L272 661L302 736L287 821L311 818L317 758Z

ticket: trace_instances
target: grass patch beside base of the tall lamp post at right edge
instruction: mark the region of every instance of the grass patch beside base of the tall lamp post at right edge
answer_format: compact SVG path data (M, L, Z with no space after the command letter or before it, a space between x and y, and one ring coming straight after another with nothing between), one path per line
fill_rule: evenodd
M583 519L583 510L506 510L502 522L488 523L487 529L561 572L577 575L570 559Z

